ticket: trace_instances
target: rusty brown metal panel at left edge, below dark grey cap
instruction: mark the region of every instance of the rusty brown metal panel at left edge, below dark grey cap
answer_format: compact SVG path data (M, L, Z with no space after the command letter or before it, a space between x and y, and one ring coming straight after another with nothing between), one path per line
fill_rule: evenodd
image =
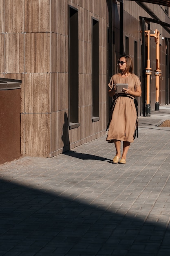
M20 89L0 90L0 164L21 156Z

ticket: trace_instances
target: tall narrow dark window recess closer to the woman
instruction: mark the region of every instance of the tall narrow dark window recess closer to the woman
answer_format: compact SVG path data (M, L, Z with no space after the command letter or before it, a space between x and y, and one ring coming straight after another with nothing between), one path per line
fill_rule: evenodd
M99 121L99 22L92 19L92 121Z

